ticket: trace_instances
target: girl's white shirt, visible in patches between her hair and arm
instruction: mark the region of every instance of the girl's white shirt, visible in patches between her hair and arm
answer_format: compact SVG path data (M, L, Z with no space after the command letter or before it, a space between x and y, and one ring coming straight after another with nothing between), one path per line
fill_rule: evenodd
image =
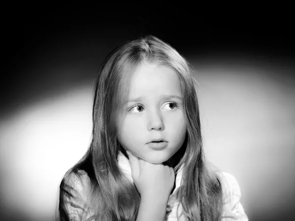
M131 176L131 165L129 160L120 152L118 155L118 165L122 170L123 174L133 182ZM84 202L86 202L87 198L87 187L89 179L86 172L81 171L82 179L79 179L76 176L72 176L67 184L73 187L77 191L77 200L75 202L67 201L65 203L66 208L68 210L70 219L73 221L81 220L81 213L83 211L82 207ZM248 221L247 215L244 212L244 209L240 203L241 192L239 185L235 179L235 177L226 172L219 173L221 185L222 185L222 213L221 213L221 221ZM182 178L182 170L181 168L177 172L176 180L175 180L175 189L173 193L170 195L168 200L168 205L171 208L171 212L166 217L165 221L186 221L185 217L182 214L182 206L176 199L177 189L180 187L180 182ZM178 206L179 204L179 206ZM178 211L177 211L178 208ZM177 212L180 216L177 219ZM91 213L89 213L90 217ZM91 218L89 219L89 221Z

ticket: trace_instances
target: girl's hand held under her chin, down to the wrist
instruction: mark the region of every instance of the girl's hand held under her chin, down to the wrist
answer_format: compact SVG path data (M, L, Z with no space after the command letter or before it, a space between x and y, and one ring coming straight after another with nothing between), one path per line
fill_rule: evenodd
M173 168L148 163L128 150L126 152L131 164L132 178L141 197L168 199L175 181Z

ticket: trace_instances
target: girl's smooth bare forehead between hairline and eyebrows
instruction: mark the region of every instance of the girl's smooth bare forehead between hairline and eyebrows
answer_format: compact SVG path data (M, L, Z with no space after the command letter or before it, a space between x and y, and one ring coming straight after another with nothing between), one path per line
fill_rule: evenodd
M129 98L153 95L181 96L180 81L169 67L150 63L141 63L129 85Z

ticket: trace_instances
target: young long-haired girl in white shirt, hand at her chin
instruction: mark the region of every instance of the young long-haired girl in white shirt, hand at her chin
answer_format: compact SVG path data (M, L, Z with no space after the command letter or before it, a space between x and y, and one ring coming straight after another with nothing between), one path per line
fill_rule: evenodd
M153 36L107 57L90 147L60 184L60 221L248 220L236 179L205 163L194 81Z

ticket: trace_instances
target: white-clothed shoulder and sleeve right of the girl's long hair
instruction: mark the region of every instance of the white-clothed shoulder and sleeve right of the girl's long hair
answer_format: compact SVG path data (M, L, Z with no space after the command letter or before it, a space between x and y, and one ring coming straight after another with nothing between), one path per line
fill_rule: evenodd
M248 221L240 203L242 194L236 178L226 172L218 172L218 177L222 187L222 221Z

